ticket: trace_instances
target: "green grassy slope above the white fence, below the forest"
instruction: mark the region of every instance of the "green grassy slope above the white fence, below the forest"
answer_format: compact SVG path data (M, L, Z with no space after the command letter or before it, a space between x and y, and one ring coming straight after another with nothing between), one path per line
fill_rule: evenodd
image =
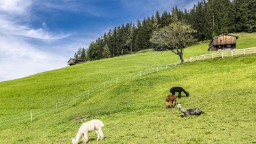
M238 48L256 46L255 33L235 35L239 36ZM210 53L207 51L208 44L209 42L204 42L186 48L184 57ZM57 101L79 95L88 88L111 78L178 61L178 56L170 51L148 51L47 71L18 80L0 82L0 116L44 109L53 106Z

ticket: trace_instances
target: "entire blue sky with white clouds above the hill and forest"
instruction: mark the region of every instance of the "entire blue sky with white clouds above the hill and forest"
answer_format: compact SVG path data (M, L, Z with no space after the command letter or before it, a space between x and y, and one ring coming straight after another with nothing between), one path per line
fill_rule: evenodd
M0 0L0 81L65 67L113 27L198 0Z

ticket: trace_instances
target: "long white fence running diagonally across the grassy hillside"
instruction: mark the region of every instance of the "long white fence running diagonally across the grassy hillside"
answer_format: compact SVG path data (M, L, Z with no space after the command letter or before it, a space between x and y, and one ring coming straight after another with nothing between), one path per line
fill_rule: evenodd
M256 53L256 47L248 48L248 49L237 49L233 51L222 51L218 53L211 53L211 54L204 54L199 56L193 56L190 58L185 58L184 62L196 62L199 60L207 60L207 59L213 59L213 58L224 58L227 56L235 56L235 55L241 55L241 54L253 54ZM107 89L107 86L112 86L114 84L118 84L120 82L131 80L133 78L142 77L144 75L148 75L151 73L157 73L159 71L170 69L172 67L176 67L181 65L181 62L175 62L174 64L166 64L164 66L154 67L151 69L147 69L145 71L140 71L138 73L131 73L129 75L125 75L123 77L116 77L112 78L109 81L103 82L94 88L85 90L83 93L79 95L75 95L71 97L70 99L66 99L63 101L58 101L55 103L55 106L51 106L49 108L46 108L45 110L39 110L36 112L36 110L31 110L30 112L23 113L21 116L18 115L9 115L6 117L0 117L0 126L7 126L12 125L14 123L19 123L22 121L34 121L36 118L39 119L42 115L47 114L57 114L58 111L63 110L64 108L67 108L68 106L74 106L76 102L81 102L85 99L89 99L90 95L99 92L99 90L105 90Z

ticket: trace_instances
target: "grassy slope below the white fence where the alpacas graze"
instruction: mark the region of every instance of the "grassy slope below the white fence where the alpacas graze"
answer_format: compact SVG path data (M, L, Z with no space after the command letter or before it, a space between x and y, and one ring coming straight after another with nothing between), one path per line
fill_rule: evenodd
M71 143L79 126L90 119L105 123L104 141L89 143L253 143L255 141L256 55L216 58L183 64L113 85L90 99L0 131L0 143ZM183 86L184 108L205 114L179 117L166 110L171 86ZM75 123L72 119L86 115Z

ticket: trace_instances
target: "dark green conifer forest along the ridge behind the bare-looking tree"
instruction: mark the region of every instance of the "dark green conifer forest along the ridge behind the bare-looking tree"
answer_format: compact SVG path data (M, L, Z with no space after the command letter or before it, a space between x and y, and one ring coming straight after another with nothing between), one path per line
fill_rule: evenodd
M150 41L153 32L175 21L190 25L196 30L193 36L197 42L230 32L256 31L255 0L209 0L199 1L192 8L180 10L177 6L171 12L155 12L143 21L126 23L97 38L88 48L79 48L74 58L79 60L99 60L142 49L156 49L159 45Z

